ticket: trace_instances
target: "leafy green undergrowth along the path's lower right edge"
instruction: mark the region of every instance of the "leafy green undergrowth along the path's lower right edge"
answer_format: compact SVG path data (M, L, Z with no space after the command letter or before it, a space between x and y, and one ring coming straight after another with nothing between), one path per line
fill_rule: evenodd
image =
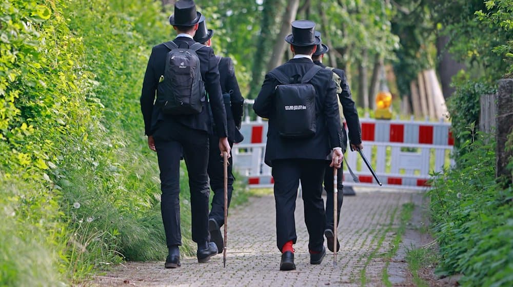
M513 280L513 189L495 181L495 144L478 133L458 169L435 174L429 191L442 274L463 286L509 286Z

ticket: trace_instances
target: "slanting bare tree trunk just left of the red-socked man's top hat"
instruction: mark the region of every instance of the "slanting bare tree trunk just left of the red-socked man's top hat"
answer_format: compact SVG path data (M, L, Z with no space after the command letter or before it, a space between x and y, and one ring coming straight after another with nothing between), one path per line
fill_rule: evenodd
M283 39L290 33L290 23L295 19L298 12L299 0L289 0L285 13L282 17L282 27L280 33L274 39L274 47L272 48L271 58L267 63L267 71L270 71L282 64L282 59L287 48L287 42Z

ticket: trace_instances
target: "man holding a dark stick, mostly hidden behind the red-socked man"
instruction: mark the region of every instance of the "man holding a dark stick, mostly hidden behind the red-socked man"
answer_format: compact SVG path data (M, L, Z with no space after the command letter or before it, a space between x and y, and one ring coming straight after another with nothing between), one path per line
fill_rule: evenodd
M316 32L316 36L321 38L321 33ZM360 128L360 119L358 118L358 112L356 107L354 106L354 101L351 98L351 91L349 90L349 85L347 84L347 78L344 70L337 68L326 67L322 64L322 58L326 52L329 51L329 48L324 44L319 44L317 46L317 51L313 53L312 59L315 65L321 66L323 68L329 69L333 71L334 81L337 83L337 94L339 96L340 104L342 105L342 111L344 113L344 117L347 122L347 127L349 129L349 142L351 145L351 150L354 151L357 148L363 149L362 145L362 131ZM345 129L342 129L343 134L343 152L345 153L345 145L346 138ZM344 171L342 167L338 170L337 174L337 226L340 222L340 210L342 208L342 201L344 199L343 188L344 185L342 183ZM324 190L326 190L326 226L324 230L324 235L326 236L326 241L328 245L328 249L333 252L333 172L332 169L326 165L326 171L324 173ZM340 249L340 243L337 240L337 251Z

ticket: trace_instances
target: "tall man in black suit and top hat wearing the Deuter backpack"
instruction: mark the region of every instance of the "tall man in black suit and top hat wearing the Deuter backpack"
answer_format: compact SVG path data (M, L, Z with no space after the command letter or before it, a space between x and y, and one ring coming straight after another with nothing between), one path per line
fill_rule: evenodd
M173 42L180 49L188 49L195 41L193 36L198 30L198 23L204 18L196 12L193 1L181 0L174 5L174 14L169 23L178 35ZM155 91L164 75L166 55L170 44L163 43L153 47L148 67L144 75L141 93L141 111L144 117L145 133L148 146L156 151L159 159L161 178L161 211L169 248L165 267L180 266L179 246L182 244L180 232L180 157L183 154L189 174L191 194L192 240L198 243L196 253L199 262L207 262L210 256L218 253L213 242L208 242L208 188L207 165L209 157L208 133L211 121L205 101L200 113L188 115L164 114L161 105L154 104ZM219 84L218 60L209 47L201 47L196 54L200 59L201 77L209 97L214 131L219 136L219 149L230 153L227 139L226 112L223 105L221 86ZM161 91L156 92L158 103ZM221 157L221 155L220 155Z

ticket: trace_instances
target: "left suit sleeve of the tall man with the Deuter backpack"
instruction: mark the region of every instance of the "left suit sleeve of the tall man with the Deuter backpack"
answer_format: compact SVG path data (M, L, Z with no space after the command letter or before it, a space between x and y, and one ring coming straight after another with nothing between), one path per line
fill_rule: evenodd
M153 66L155 58L155 49L151 51L150 58L148 59L148 66L144 74L143 88L141 91L141 112L144 118L144 132L147 136L151 135L151 115L153 113L153 101L155 100L155 92L159 84Z

